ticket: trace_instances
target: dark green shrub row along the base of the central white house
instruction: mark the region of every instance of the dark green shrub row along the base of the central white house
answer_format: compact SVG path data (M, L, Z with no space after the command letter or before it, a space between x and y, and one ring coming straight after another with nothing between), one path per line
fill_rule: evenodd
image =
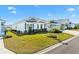
M47 29L46 28L45 29L32 29L32 27L29 27L28 32L27 32L27 30L25 30L24 33L19 30L18 31L11 30L11 32L15 33L18 36L21 36L23 34L25 35L25 34L47 33Z

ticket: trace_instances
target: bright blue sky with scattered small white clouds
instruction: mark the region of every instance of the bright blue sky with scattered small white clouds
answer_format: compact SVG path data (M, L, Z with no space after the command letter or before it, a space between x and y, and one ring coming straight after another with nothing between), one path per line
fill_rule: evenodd
M29 16L45 20L69 18L73 23L79 23L78 5L0 5L0 17L7 24L25 19Z

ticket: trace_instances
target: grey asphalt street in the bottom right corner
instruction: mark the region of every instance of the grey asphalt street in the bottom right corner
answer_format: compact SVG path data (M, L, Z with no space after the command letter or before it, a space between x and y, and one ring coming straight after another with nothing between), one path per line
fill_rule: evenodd
M61 46L46 52L45 54L79 54L79 37Z

